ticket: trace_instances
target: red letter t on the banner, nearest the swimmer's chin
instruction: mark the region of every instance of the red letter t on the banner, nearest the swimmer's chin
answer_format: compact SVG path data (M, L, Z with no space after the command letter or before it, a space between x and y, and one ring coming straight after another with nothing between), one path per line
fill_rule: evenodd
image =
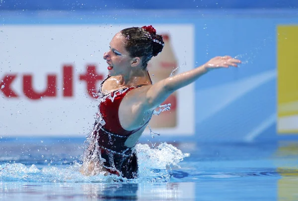
M87 72L84 75L80 74L79 80L86 81L88 94L90 97L97 98L97 95L95 95L96 83L99 80L103 80L103 75L96 73L96 67L94 65L87 66Z

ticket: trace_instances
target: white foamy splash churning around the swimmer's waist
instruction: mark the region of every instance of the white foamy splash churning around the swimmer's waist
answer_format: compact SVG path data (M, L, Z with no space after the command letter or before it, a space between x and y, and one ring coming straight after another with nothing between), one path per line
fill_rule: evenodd
M116 175L104 176L103 173L85 176L80 173L82 165L77 161L70 165L50 165L42 168L38 168L34 164L5 163L0 165L0 178L2 182L42 183L168 182L171 178L169 172L171 168L179 168L178 163L189 156L167 143L161 143L155 148L149 147L148 144L137 144L136 152L139 160L139 177L137 179L128 180Z

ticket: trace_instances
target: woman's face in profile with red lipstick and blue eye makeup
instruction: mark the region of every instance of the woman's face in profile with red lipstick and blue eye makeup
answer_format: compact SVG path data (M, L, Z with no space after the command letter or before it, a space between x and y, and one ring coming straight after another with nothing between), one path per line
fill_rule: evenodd
M128 75L131 71L133 58L125 49L125 37L118 32L110 42L110 50L103 54L108 63L110 76Z

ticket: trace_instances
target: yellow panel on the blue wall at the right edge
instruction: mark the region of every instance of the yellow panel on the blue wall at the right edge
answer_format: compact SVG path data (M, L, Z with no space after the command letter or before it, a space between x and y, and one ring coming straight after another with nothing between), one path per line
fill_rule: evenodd
M298 115L298 26L280 25L277 31L278 117Z

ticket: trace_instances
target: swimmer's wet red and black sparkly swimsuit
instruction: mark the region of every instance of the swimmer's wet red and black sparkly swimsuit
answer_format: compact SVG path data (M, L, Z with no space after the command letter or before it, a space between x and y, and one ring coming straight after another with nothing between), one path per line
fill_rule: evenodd
M125 95L133 89L142 87L142 85L120 89L104 95L101 88L102 84L108 78L110 76L107 76L100 85L98 93L100 102L93 129L93 139L91 140L95 140L98 143L97 149L100 149L97 152L98 155L100 154L98 157L110 173L132 179L138 173L137 155L134 152L134 148L125 146L125 141L130 135L142 129L147 123L135 130L125 130L120 124L118 111ZM90 154L93 154L94 149L96 149L96 146L93 147L93 150L89 150L91 152Z

